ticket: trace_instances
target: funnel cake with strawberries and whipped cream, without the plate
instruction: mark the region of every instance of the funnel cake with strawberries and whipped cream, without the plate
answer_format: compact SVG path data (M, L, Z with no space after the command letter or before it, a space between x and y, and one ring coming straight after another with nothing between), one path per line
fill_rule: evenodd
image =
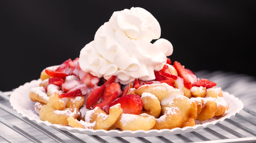
M160 33L143 8L114 12L79 57L41 72L29 94L34 111L52 124L130 131L183 128L226 114L221 87L171 62L173 46Z

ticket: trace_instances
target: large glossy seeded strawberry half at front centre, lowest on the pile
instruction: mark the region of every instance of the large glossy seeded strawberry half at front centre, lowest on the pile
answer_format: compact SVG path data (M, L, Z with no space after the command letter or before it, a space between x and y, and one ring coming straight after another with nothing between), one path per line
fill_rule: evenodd
M111 106L120 103L123 113L128 114L137 114L139 115L140 111L143 107L143 102L137 94L128 94L123 97L117 98L114 102L112 102L106 109L106 113L109 114L109 109Z

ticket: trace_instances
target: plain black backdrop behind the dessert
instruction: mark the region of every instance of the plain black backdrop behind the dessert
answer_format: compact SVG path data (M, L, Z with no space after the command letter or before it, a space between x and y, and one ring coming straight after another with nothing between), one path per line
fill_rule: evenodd
M48 66L79 57L114 11L141 7L173 44L171 61L192 71L255 74L253 1L1 1L0 90L33 79Z

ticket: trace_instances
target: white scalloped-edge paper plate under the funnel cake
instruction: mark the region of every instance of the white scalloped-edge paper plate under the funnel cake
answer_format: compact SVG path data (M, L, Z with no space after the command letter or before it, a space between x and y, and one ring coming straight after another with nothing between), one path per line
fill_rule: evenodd
M230 118L231 116L238 113L243 109L243 103L238 98L234 97L234 95L229 94L228 92L223 93L223 97L226 102L229 104L228 113L224 116L214 117L213 119L205 120L205 121L197 121L196 125L193 127L184 127L184 128L174 128L174 129L162 129L162 130L149 130L149 131L119 131L119 130L92 130L92 129L82 129L82 128L72 128L70 126L62 126L58 124L52 124L48 121L42 121L39 119L39 116L35 114L34 111L34 103L30 100L29 92L32 87L38 86L41 80L32 80L29 83L25 83L23 86L16 88L11 96L10 103L14 110L20 113L22 116L29 118L30 120L36 121L38 123L44 123L53 128L58 128L60 130L87 134L87 135L106 135L106 136L131 136L131 137L143 137L143 136L163 136L163 135L174 135L181 134L186 132L191 132L199 129L203 129L210 125L216 124L217 122L221 122L226 118Z

